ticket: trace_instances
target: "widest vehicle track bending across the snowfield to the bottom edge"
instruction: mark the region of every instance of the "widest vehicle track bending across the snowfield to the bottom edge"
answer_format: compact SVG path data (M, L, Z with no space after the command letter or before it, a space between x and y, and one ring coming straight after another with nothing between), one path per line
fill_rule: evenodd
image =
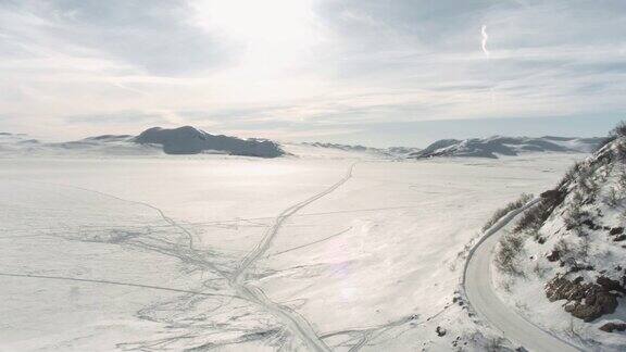
M335 185L302 202L287 208L280 214L278 214L272 226L268 227L264 232L261 241L259 241L254 248L252 248L252 250L243 257L241 264L238 266L230 278L230 286L237 291L238 294L265 306L270 312L273 312L276 316L279 316L291 329L291 331L295 332L304 343L306 343L306 345L309 345L309 348L314 351L330 351L330 348L317 336L311 324L302 315L298 314L296 311L289 309L288 306L272 302L261 288L247 284L246 272L272 247L274 238L276 235L278 235L278 231L290 216L296 214L304 206L313 203L314 201L334 192L337 188L341 187L341 185L346 184L352 177L354 165L356 165L356 163L351 164L350 167L348 167L348 172L343 178L341 178Z

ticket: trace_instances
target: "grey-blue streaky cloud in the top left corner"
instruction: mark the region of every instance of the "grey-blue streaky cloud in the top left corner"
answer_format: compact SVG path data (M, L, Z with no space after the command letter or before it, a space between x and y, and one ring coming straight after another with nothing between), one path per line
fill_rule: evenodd
M180 75L220 66L227 48L189 23L175 1L51 0L7 2L3 32L13 46L120 61L154 75ZM20 42L22 41L22 42Z

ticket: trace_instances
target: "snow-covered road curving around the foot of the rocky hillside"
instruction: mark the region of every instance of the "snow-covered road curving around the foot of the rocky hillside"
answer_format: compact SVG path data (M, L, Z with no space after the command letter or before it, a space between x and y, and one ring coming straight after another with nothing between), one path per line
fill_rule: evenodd
M463 276L465 294L478 315L500 330L505 338L518 343L526 350L536 352L578 352L581 351L579 348L541 329L505 305L496 294L492 285L491 262L493 248L503 232L500 229L519 213L536 204L537 201L534 200L500 219L470 252Z

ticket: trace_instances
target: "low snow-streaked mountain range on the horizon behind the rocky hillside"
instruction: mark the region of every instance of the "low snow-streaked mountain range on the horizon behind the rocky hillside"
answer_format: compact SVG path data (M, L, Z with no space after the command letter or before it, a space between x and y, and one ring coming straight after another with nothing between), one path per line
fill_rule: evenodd
M472 138L465 140L441 139L424 150L408 155L411 159L434 156L498 158L524 152L591 152L602 138L568 137L502 137Z

